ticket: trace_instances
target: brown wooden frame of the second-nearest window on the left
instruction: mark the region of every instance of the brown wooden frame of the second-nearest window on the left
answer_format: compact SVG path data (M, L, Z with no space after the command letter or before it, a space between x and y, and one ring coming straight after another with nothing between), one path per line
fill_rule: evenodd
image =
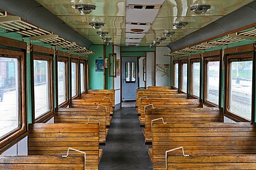
M33 120L35 123L46 123L48 120L50 120L54 116L54 85L53 85L53 57L51 55L45 55L45 54L33 54L32 55L32 91L33 91ZM48 62L48 76L49 76L49 106L50 110L44 113L43 115L40 115L38 118L35 118L35 86L34 86L34 60L44 60Z

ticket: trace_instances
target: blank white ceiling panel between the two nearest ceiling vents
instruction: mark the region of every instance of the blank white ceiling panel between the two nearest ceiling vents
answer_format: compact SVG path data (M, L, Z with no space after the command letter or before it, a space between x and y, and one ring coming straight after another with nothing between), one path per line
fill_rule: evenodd
M126 22L153 23L159 9L127 9Z

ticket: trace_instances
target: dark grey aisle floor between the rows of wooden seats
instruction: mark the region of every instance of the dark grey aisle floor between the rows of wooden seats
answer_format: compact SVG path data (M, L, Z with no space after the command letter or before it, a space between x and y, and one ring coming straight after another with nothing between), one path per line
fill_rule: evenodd
M114 112L104 154L99 164L105 169L152 169L135 108Z

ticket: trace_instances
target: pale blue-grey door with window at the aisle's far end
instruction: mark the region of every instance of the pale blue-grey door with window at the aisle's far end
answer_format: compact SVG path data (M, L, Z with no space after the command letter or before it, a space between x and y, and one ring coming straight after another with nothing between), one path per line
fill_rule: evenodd
M122 57L122 101L136 100L138 88L137 57Z

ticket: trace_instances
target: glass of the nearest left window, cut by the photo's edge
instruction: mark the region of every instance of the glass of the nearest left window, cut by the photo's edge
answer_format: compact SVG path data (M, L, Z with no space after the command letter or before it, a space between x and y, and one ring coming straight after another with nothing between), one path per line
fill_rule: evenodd
M19 127L18 59L0 57L0 137Z

